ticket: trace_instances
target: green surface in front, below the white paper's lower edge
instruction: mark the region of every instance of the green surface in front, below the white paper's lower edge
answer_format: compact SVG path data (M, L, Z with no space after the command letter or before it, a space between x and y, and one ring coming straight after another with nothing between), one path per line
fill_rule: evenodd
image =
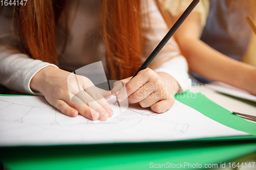
M0 152L10 170L151 169L150 162L220 164L256 152L256 143L156 142L0 148Z

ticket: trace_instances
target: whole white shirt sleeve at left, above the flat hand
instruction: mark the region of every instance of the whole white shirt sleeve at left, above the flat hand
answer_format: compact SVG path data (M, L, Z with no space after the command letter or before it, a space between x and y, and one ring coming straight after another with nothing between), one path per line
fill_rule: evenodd
M57 67L41 60L34 60L26 54L8 53L0 46L0 84L10 90L35 94L30 89L30 81L39 70L47 66Z

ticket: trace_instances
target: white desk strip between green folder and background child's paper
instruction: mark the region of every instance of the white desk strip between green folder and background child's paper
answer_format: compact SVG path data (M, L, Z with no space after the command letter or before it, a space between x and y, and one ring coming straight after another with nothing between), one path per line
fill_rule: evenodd
M238 101L236 99L229 98L226 95L215 92L214 90L210 89L209 87L207 87L205 85L193 86L191 88L191 92L195 92L195 93L201 92L212 102L215 102L216 104L222 106L223 108L225 108L231 112L235 111L235 112L239 112L239 113L256 116L256 103L254 106L252 106L247 103ZM245 119L249 122L256 124L256 121L252 121L247 118L245 118Z

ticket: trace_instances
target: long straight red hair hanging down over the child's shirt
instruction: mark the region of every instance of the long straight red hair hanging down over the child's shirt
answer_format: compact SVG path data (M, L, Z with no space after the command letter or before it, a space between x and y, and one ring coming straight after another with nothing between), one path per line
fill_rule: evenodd
M65 6L63 0L29 0L14 10L23 48L33 59L58 64L56 22ZM142 16L139 0L100 0L101 36L112 79L130 76L141 66ZM162 4L156 4L170 26Z

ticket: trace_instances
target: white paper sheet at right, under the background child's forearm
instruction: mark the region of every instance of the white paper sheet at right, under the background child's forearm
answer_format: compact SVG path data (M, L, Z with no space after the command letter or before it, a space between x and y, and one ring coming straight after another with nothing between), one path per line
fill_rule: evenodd
M228 95L235 96L237 98L256 102L255 95L252 95L251 93L249 93L246 90L242 90L240 88L230 86L230 85L222 83L222 82L212 82L212 83L206 84L206 86L210 87L211 89L214 89L215 91L218 91L218 92L221 92L224 94L228 94Z

